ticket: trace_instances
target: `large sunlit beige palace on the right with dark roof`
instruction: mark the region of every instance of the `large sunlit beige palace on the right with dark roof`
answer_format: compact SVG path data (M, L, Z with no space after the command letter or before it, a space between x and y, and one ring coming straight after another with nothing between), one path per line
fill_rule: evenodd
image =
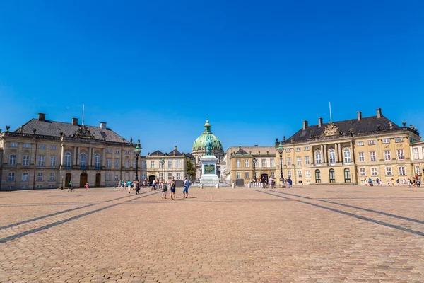
M294 184L359 184L371 178L387 183L414 178L423 166L420 135L406 122L399 127L377 108L377 115L317 125L303 121L302 128L276 147L282 154L284 178ZM416 145L414 145L416 144ZM276 151L276 163L280 154ZM278 174L278 173L277 173Z

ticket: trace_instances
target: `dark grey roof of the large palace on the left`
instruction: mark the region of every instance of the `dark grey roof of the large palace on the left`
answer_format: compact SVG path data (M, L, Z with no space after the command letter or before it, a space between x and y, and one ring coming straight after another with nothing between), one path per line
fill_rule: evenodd
M60 137L61 132L64 132L65 137L80 137L101 139L104 141L123 142L124 138L119 136L112 129L101 129L95 126L72 125L71 123L55 122L55 121L40 121L32 119L24 125L16 129L14 132L22 132L24 134L33 134L33 129L36 129L36 134L46 136ZM79 131L78 131L79 130ZM126 141L127 142L127 141Z

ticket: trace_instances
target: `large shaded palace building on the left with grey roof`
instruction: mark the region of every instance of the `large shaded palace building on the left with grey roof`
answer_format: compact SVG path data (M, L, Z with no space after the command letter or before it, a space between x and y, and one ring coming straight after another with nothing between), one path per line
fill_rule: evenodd
M0 190L74 186L113 187L134 180L136 144L100 127L38 119L0 130Z

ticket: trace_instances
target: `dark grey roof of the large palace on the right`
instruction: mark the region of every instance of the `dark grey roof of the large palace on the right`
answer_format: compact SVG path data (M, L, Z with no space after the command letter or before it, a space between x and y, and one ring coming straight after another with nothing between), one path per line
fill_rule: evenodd
M338 128L339 134L350 134L351 131L353 131L353 134L366 134L368 132L401 129L401 127L384 116L380 118L377 116L363 117L360 121L358 121L358 119L336 121L333 122L333 124ZM298 132L293 134L288 141L301 141L313 137L321 137L327 125L329 125L329 123L323 123L321 127L318 127L318 125L312 125L306 127L305 130L300 129Z

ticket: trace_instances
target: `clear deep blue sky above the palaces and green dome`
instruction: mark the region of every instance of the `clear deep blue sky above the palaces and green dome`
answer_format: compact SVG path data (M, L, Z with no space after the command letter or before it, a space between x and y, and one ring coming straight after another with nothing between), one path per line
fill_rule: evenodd
M424 131L424 1L0 1L0 128L107 122L142 154L225 150L317 118Z

